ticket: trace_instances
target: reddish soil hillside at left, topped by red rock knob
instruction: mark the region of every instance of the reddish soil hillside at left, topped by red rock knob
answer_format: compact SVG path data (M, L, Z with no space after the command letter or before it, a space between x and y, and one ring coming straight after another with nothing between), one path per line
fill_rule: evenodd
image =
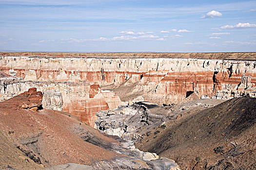
M0 102L0 132L9 141L15 141L15 145L27 157L48 167L64 163L89 165L117 156L116 153L85 142L77 131L79 129L93 134L104 142L117 143L115 139L104 136L66 113L40 110L40 101L41 93L30 89L10 100ZM28 107L23 107L24 103ZM33 106L32 109L30 106ZM7 150L0 154L0 157L9 155ZM19 169L16 164L10 166ZM6 168L5 164L0 165L0 168Z

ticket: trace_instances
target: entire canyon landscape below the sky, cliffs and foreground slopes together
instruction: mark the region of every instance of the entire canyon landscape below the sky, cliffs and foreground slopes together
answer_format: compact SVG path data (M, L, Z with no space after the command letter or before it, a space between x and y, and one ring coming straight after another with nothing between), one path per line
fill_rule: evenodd
M0 169L255 166L256 53L0 53Z

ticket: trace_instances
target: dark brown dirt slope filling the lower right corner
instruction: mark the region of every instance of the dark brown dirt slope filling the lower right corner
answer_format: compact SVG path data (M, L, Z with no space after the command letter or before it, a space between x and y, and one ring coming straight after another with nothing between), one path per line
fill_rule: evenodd
M174 159L181 169L254 170L255 123L256 99L236 98L167 123L137 147Z

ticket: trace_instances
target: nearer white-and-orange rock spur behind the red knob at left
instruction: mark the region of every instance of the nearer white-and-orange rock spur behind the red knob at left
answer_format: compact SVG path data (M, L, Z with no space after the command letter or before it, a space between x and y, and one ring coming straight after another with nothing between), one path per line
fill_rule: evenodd
M91 126L94 126L98 111L115 109L122 104L119 97L108 90L99 89L90 98L91 87L88 82L34 82L15 77L0 79L0 100L10 99L30 87L42 91L44 108L72 113Z

